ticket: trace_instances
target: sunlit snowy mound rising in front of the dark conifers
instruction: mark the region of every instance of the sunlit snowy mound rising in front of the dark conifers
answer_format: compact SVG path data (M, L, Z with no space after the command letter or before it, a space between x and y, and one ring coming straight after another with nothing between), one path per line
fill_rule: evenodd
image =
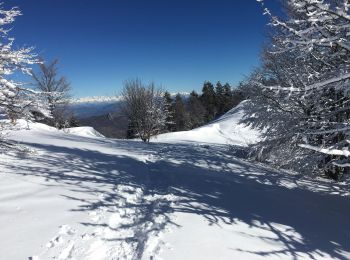
M259 140L259 132L240 124L244 114L244 102L228 111L219 119L191 131L161 134L156 142L201 142L247 146Z

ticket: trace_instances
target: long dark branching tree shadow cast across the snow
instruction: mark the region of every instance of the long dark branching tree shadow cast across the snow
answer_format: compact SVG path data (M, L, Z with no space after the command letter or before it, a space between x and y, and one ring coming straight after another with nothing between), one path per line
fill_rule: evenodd
M63 196L79 202L79 207L73 211L106 208L113 213L123 208L133 209L130 216L126 212L126 217L131 218L131 214L136 212L137 219L110 228L116 232L134 229L132 236L118 239L136 243L135 258L142 256L150 233L176 225L171 219L173 212L198 214L210 225L243 222L251 228L274 234L259 239L283 243L283 250L245 251L253 256L292 256L296 259L301 254L317 258L326 253L345 259L342 252L350 252L350 199L330 195L329 186L324 187L325 192L322 192L322 187L318 192L300 188L295 177L235 159L223 147L212 149L210 146L186 144L146 146L128 141L108 143L112 148L134 153L149 152L153 157L142 161L97 150L27 144L45 151L43 156L33 158L40 167L21 164L6 167L17 174L36 175L57 185L68 185L77 195ZM289 183L291 188L285 187L285 183ZM128 197L135 195L136 191L141 191L141 196L130 202ZM336 188L334 191L340 192ZM81 199L79 193L103 194L103 198ZM83 224L108 226L108 223L92 221ZM234 248L234 245L232 247L242 250Z

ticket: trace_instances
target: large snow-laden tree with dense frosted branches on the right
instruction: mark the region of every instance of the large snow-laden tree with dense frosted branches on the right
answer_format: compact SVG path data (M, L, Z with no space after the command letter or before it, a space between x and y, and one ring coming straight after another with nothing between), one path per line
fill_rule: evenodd
M248 121L265 129L258 154L332 177L349 165L349 7L347 0L288 0L285 19L265 8L271 44L245 84Z

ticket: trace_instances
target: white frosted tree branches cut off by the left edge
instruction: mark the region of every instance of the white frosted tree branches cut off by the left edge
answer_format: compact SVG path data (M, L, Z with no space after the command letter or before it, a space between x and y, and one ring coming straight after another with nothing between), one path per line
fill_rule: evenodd
M19 15L21 12L17 8L5 10L0 6L0 113L10 118L12 124L19 118L31 119L35 113L43 115L47 112L41 93L8 78L15 72L30 75L29 66L38 62L33 48L13 48L14 38L9 36L8 27ZM0 133L10 127L11 124L3 121Z

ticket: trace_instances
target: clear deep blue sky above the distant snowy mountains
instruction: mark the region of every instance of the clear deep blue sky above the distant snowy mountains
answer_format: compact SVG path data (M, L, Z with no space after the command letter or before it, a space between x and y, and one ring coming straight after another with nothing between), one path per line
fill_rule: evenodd
M271 1L271 0L270 0ZM171 92L236 84L258 65L267 18L256 0L11 0L16 45L58 58L77 97L131 77Z

